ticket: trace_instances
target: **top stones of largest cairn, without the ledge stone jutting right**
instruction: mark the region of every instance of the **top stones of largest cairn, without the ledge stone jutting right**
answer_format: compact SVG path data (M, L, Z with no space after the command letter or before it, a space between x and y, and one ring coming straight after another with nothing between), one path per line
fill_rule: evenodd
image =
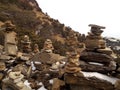
M106 44L101 36L103 32L101 29L105 29L105 27L93 24L90 24L89 26L91 27L91 32L88 32L88 36L86 37L86 48L88 50L104 49Z

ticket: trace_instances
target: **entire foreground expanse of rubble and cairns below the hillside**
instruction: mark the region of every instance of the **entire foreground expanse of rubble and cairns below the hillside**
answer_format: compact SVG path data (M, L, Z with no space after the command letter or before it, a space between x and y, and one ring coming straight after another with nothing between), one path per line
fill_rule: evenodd
M70 31L67 55L61 56L54 53L50 39L46 39L42 50L35 44L32 52L28 35L21 41L22 52L18 52L14 25L5 25L5 46L0 45L2 90L120 90L119 78L113 77L119 77L120 65L101 36L105 27L90 24L91 31L81 39L85 44L78 41L77 33ZM10 39L9 33L13 36Z

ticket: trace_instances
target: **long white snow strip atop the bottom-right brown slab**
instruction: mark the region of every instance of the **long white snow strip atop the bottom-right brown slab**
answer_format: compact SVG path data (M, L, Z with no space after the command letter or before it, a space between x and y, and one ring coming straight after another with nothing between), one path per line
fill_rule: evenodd
M115 84L115 82L117 80L119 80L118 78L115 78L115 77L109 77L107 75L104 75L104 74L101 74L101 73L97 73L97 72L83 72L83 75L85 77L93 77L95 76L96 78L99 78L99 79L102 79L102 80L106 80L108 82L111 82L112 84Z

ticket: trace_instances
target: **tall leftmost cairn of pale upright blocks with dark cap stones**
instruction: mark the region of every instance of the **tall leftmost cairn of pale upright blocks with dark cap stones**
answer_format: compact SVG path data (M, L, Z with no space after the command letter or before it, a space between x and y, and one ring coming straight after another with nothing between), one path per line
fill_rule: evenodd
M5 28L5 53L7 55L16 56L18 49L16 39L17 34L14 32L15 25L13 25L11 21L6 21L2 27Z

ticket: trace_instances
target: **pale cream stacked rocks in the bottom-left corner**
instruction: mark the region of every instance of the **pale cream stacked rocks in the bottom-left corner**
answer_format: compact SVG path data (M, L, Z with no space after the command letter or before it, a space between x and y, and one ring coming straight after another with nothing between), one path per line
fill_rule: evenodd
M21 71L10 71L8 78L3 80L2 90L6 90L9 85L11 85L13 90L31 90L24 84L23 78L24 75L21 74Z

